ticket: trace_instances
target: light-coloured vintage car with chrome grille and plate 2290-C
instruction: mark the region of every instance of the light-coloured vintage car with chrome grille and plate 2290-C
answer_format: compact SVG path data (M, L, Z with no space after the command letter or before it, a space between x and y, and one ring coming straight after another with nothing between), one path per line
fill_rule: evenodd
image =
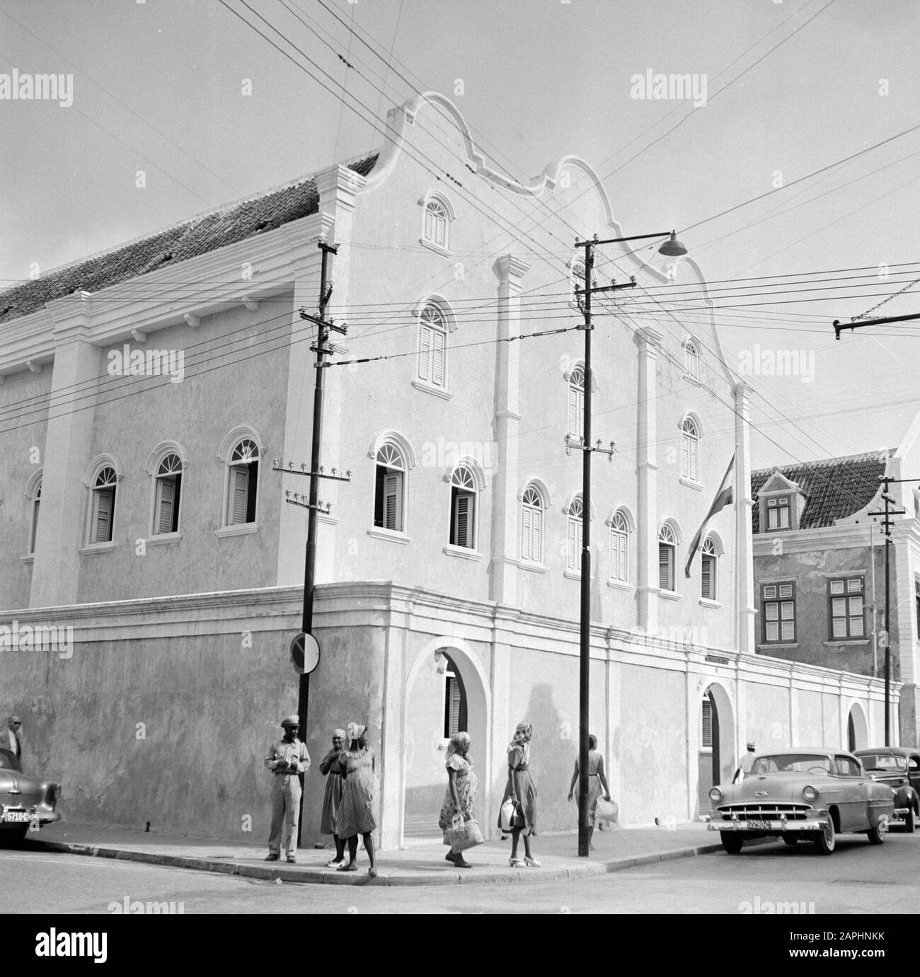
M781 837L794 845L808 838L830 855L837 834L867 834L880 845L895 814L895 791L879 784L853 753L800 746L758 753L740 783L715 786L709 829L737 855L745 838Z

